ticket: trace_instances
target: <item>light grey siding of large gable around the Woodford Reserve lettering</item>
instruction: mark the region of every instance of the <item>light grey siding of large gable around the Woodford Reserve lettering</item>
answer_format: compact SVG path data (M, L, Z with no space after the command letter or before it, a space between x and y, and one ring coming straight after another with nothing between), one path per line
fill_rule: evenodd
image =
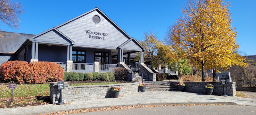
M92 17L94 15L100 16L101 21L99 24L95 24L92 21ZM93 12L90 12L89 14L82 16L68 24L60 26L57 29L73 40L75 42L74 46L87 48L116 49L129 39L97 10L94 10ZM85 30L107 33L108 36L100 36L104 37L105 40L89 38L89 34L86 34ZM91 36L94 35L92 34Z

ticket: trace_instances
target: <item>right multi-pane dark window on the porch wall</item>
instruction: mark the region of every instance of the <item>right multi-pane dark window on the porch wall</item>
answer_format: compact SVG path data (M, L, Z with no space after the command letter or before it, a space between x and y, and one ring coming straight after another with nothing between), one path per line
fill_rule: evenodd
M94 52L94 61L100 62L102 64L108 64L108 52Z

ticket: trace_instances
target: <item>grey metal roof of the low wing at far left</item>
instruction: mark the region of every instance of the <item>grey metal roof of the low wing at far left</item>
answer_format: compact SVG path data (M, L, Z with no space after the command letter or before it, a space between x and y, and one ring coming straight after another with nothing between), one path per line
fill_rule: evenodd
M0 53L1 54L14 54L22 44L35 36L33 34L22 34L14 32L0 31L3 37L0 37Z

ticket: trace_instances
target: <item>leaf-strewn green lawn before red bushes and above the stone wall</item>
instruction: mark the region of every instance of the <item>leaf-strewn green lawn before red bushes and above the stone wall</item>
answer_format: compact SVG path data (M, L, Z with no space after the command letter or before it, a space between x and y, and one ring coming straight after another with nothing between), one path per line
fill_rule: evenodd
M69 83L70 86L78 85L106 85L118 84L120 82L101 82L101 83ZM50 103L50 87L49 83L45 84L25 84L17 85L13 89L13 100L11 101L11 89L7 85L0 85L0 108L24 107L34 105L44 105Z

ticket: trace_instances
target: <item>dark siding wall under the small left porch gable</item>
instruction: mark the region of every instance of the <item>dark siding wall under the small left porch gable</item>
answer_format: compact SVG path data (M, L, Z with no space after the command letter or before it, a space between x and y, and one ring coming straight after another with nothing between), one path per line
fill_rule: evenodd
M67 46L38 45L38 61L66 62Z

